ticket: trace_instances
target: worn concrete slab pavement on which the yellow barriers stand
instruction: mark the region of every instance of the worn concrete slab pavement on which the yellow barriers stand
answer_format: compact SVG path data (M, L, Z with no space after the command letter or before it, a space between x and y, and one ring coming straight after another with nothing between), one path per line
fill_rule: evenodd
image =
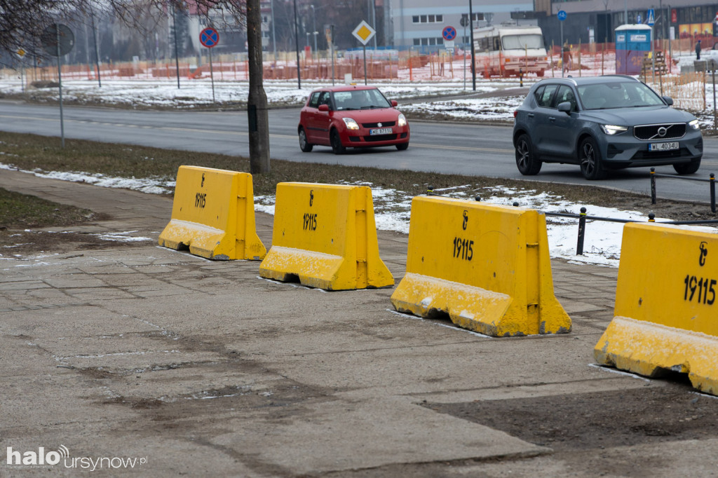
M73 230L152 238L0 261L0 442L21 454L62 445L75 458L32 467L0 452L1 476L73 475L80 457L144 459L134 472L153 477L710 476L718 466L708 426L701 439L567 449L475 418L526 403L570 428L582 400L614 396L601 394L690 393L592 366L612 318L614 268L553 261L573 331L493 339L396 314L393 289L327 293L259 278L257 261L159 248L167 198L7 170L0 187L112 218ZM269 248L272 217L256 222ZM398 283L407 237L378 239ZM540 411L552 397L577 406ZM129 472L103 463L107 476Z

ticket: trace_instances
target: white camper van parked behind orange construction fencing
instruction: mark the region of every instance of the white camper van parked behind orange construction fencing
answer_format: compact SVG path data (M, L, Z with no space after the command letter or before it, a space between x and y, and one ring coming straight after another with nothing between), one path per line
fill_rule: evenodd
M518 76L519 72L544 76L549 58L540 27L499 25L474 29L477 75Z

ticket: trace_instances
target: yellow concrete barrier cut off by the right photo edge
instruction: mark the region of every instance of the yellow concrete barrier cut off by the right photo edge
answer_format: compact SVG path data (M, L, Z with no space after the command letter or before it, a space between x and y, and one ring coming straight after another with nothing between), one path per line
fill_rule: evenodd
M597 362L648 377L687 372L718 395L718 235L625 225L614 316Z

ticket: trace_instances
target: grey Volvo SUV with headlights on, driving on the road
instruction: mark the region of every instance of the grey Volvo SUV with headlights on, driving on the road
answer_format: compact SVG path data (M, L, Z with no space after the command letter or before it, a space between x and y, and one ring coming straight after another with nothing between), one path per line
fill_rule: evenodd
M586 179L602 179L609 169L671 164L692 174L703 137L695 116L672 104L630 76L541 80L514 113L518 171L579 164Z

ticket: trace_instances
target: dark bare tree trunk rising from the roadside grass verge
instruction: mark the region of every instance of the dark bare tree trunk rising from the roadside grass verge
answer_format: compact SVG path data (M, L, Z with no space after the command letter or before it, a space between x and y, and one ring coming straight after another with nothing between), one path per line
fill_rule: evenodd
M247 0L247 47L249 56L249 169L251 174L269 173L269 113L262 84L262 32L259 0Z

